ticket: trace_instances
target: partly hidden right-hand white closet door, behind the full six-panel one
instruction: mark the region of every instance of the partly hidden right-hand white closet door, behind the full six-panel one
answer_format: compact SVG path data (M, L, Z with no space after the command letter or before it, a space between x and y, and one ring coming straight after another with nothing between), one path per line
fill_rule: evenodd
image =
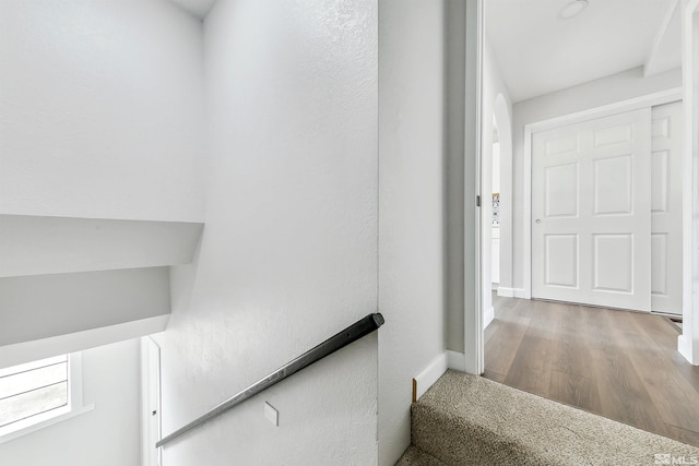
M682 314L682 101L651 118L651 308Z

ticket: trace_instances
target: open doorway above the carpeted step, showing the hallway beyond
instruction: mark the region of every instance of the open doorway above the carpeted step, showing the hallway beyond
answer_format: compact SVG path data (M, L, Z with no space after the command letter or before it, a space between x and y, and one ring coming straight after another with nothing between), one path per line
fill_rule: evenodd
M682 100L691 105L683 74L694 81L687 57L682 67L683 3L641 2L630 19L637 13L620 0L589 2L571 17L566 2L483 0L484 196L497 182L488 170L500 151L497 270L493 206L481 212L484 323L490 303L495 310L485 375L699 444L699 413L684 417L699 405L696 351L689 345L682 351L689 362L679 358L677 328L656 315L683 315L686 327L694 313L687 218L697 180L682 168L694 145L678 135L691 111L682 109ZM496 97L509 115L507 155ZM672 382L653 383L652 367ZM629 381L633 393L625 392Z

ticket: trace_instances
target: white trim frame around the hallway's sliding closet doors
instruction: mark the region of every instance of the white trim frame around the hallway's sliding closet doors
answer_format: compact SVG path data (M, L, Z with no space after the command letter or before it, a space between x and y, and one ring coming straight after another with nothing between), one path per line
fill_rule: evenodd
M697 0L699 1L699 0ZM565 115L548 120L536 121L524 126L524 235L522 238L524 299L532 298L532 134L552 130L564 124L580 123L595 118L608 117L644 107L670 104L683 98L683 88L676 87L647 96L636 97L603 107L591 108L576 113Z

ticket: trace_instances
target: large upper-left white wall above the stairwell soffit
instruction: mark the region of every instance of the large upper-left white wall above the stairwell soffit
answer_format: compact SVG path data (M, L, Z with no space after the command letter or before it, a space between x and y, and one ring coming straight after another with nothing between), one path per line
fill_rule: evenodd
M201 220L201 22L166 0L0 2L0 213Z

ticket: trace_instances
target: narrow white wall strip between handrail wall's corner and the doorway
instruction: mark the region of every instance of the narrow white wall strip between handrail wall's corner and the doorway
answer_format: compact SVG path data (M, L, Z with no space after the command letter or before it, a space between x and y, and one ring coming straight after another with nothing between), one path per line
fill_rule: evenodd
M443 2L379 1L380 465L410 444L412 379L445 351L443 36Z

